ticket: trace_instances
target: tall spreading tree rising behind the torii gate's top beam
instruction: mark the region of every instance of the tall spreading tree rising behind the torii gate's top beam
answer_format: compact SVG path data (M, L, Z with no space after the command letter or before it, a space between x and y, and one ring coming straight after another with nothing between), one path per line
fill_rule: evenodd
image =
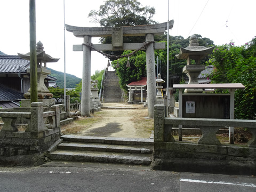
M108 0L98 11L92 10L89 17L102 27L122 27L155 24L151 18L154 7L142 7L137 0ZM102 37L101 43L111 43L111 37ZM145 42L145 37L123 37L124 43ZM123 51L105 51L110 55L121 55Z

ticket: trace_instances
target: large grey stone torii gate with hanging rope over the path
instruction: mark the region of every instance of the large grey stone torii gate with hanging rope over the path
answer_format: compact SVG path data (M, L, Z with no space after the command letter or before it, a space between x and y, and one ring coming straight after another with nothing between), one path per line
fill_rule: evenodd
M169 28L174 21L169 21ZM73 51L83 51L83 75L82 75L82 106L81 115L90 116L91 94L91 38L112 37L112 44L95 44L93 50L117 51L138 50L145 46L144 43L123 43L123 36L146 36L146 43L154 41L154 35L163 35L167 29L167 22L155 25L128 26L128 27L75 27L66 25L67 31L73 32L76 37L83 37L82 45L73 45ZM147 90L148 90L148 116L154 116L156 103L156 75L154 49L165 49L165 43L151 43L146 46L147 60ZM143 49L142 49L143 50ZM145 48L144 48L145 50Z

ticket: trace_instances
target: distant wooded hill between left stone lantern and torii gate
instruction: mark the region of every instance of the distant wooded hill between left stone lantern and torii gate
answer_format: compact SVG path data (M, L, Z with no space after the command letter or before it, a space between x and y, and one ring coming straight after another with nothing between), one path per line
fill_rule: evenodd
M57 85L60 88L64 88L64 73L57 70L50 69L50 68L47 68L47 69L52 71L51 76L54 76L58 79ZM82 80L81 78L78 78L75 75L66 73L66 88L75 88L76 84L81 82L81 80Z

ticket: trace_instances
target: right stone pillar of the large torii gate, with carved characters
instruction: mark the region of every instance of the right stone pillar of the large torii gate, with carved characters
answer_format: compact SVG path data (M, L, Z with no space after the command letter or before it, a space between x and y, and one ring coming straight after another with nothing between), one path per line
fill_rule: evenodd
M153 34L146 35L146 42L154 41ZM156 74L155 74L155 52L154 43L146 48L147 60L147 95L148 95L148 116L153 118L154 105L156 103Z

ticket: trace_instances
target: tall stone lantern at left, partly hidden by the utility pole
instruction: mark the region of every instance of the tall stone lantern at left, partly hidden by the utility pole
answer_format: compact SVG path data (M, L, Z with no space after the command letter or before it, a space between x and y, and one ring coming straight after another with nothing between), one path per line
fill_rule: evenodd
M39 41L36 44L36 57L37 57L37 95L38 99L51 99L53 94L47 89L44 84L44 79L47 75L51 74L51 71L46 69L47 62L57 62L59 59L52 58L49 54L46 54L43 47L43 43ZM30 53L22 54L18 53L20 58L30 60ZM27 69L27 73L30 73L30 68ZM30 99L30 88L27 93L24 94L26 99Z

